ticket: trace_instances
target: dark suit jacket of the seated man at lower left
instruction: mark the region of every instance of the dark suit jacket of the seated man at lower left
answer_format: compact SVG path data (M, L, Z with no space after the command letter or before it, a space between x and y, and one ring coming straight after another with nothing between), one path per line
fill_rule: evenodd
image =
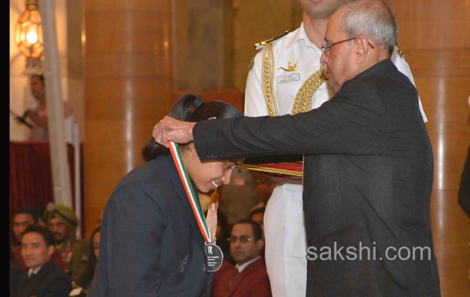
M15 297L68 297L70 291L72 291L70 277L55 265L54 260L50 260L29 279L28 271L21 273Z

